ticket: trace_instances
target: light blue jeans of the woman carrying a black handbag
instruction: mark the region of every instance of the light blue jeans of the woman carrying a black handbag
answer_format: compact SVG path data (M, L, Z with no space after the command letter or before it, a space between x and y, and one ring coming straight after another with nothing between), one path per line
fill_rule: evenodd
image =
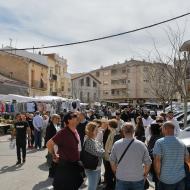
M101 170L85 170L88 179L88 190L96 190L101 175Z

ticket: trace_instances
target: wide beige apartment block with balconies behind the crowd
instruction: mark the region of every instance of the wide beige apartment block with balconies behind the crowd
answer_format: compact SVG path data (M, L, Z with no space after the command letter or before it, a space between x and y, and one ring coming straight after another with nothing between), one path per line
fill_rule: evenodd
M156 100L146 78L152 63L130 60L91 71L100 82L100 100L131 104Z

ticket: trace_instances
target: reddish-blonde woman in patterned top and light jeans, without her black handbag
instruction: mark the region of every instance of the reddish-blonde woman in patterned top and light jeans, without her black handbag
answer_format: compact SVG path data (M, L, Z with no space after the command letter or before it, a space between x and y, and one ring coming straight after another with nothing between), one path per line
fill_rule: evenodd
M88 179L88 190L96 190L101 175L101 164L104 155L104 149L101 143L96 140L98 134L98 125L95 122L89 122L85 129L86 140L83 149L93 156L98 157L98 164L95 170L86 169L85 173Z

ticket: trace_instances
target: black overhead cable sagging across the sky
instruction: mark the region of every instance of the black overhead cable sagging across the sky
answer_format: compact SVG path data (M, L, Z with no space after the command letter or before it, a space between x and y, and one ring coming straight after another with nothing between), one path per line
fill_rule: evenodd
M134 33L134 32L144 30L144 29L147 29L147 28L152 28L154 26L158 26L158 25L161 25L161 24L164 24L164 23L167 23L167 22L171 22L173 20L188 16L188 15L190 15L190 13L186 13L186 14L183 14L183 15L180 15L180 16L177 16L177 17L173 17L173 18L161 21L161 22L157 22L157 23L154 23L154 24L151 24L151 25L148 25L148 26L144 26L144 27L141 27L141 28L137 28L137 29L133 29L133 30L129 30L129 31L126 31L126 32L117 33L117 34L107 35L107 36L103 36L103 37L99 37L99 38L93 38L93 39L89 39L89 40L82 40L82 41L77 41L77 42L58 44L58 45L50 45L50 46L43 46L43 47L3 49L3 51L10 51L10 50L39 50L39 49L48 49L48 48L56 48L56 47L63 47L63 46L72 46L72 45L77 45L77 44L84 44L84 43L89 43L89 42L94 42L94 41L100 41L100 40L105 40L105 39L108 39L108 38L122 36L122 35L129 34L129 33Z

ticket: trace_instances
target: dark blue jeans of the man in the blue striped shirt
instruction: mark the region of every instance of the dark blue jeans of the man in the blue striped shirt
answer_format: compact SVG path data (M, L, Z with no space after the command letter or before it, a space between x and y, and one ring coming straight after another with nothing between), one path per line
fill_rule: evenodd
M160 181L159 190L185 190L185 180L182 179L175 184L166 184Z

